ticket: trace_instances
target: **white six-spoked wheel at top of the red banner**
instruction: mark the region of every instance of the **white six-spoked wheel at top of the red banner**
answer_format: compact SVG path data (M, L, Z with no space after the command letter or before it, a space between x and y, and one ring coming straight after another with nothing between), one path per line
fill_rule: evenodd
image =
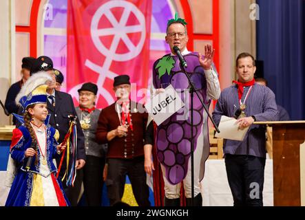
M116 21L114 14L112 14L112 8L124 8L122 17L120 21ZM138 19L138 25L130 25L126 26L129 16L134 13L136 19ZM105 17L112 24L113 28L103 28L98 29L98 23L105 14ZM127 34L129 33L138 33L141 32L140 41L138 45L134 45L132 41L130 41ZM114 35L114 39L112 41L109 50L103 43L101 42L101 36L109 36ZM109 1L103 5L96 11L94 17L91 22L91 36L94 45L97 50L101 52L101 54L105 55L107 58L111 58L113 61L129 61L130 59L138 56L140 54L146 36L145 29L145 17L138 8L132 3L128 1ZM118 47L118 43L122 40L129 52L125 54L116 54L116 49Z

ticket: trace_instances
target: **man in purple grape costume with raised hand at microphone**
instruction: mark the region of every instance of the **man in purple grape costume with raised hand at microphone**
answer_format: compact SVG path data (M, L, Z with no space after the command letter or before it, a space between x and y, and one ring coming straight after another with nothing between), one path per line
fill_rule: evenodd
M193 137L191 137L191 98L189 82L182 72L174 46L180 49L187 62L187 74L198 90L200 98L209 109L211 99L220 96L218 74L213 66L214 50L210 45L204 46L204 56L187 50L187 23L184 19L171 19L167 23L165 41L169 44L171 54L158 59L153 67L154 89L162 90L172 85L185 102L178 112L162 122L156 129L157 157L161 164L165 181L165 206L180 205L180 186L183 181L187 206L191 205L191 140L194 143L194 201L193 206L202 206L200 181L204 175L204 162L209 156L209 128L207 113L198 96L193 98Z

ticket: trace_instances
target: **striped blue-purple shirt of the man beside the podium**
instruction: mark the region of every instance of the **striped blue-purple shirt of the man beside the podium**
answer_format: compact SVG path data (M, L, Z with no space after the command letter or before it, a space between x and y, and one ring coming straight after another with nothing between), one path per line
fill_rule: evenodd
M250 87L244 88L242 100L246 96ZM253 85L248 98L246 98L246 117L254 115L256 121L275 121L278 120L277 104L275 95L268 87ZM222 115L234 117L235 111L239 108L238 87L232 85L224 89L213 111L213 120L216 124L220 123ZM253 155L255 157L266 157L265 148L266 136L265 126L252 124L246 133L243 141L224 139L224 154L233 155Z

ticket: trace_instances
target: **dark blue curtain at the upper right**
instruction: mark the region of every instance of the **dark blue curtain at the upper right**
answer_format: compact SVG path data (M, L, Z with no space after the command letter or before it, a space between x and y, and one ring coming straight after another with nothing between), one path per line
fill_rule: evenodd
M304 0L257 0L257 60L277 104L291 120L305 120Z

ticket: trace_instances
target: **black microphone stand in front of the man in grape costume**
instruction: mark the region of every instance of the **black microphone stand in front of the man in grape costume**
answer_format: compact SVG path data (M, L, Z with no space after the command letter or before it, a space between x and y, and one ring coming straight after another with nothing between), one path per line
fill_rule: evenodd
M209 113L209 110L207 109L207 107L205 107L202 98L198 94L198 91L194 87L193 83L191 83L191 78L189 78L189 74L185 70L185 67L182 65L181 61L180 61L180 67L181 67L182 72L185 74L185 76L187 76L187 80L189 80L189 93L191 94L191 206L193 206L193 198L194 198L194 180L193 180L193 176L194 176L194 170L193 170L193 151L194 151L194 149L193 149L194 148L194 144L193 144L193 94L194 94L194 92L196 93L198 99L200 100L202 106L204 107L204 110L207 112L207 115L209 116L211 122L215 126L216 131L218 133L220 133L220 131L218 129L218 126L215 124L211 114Z

